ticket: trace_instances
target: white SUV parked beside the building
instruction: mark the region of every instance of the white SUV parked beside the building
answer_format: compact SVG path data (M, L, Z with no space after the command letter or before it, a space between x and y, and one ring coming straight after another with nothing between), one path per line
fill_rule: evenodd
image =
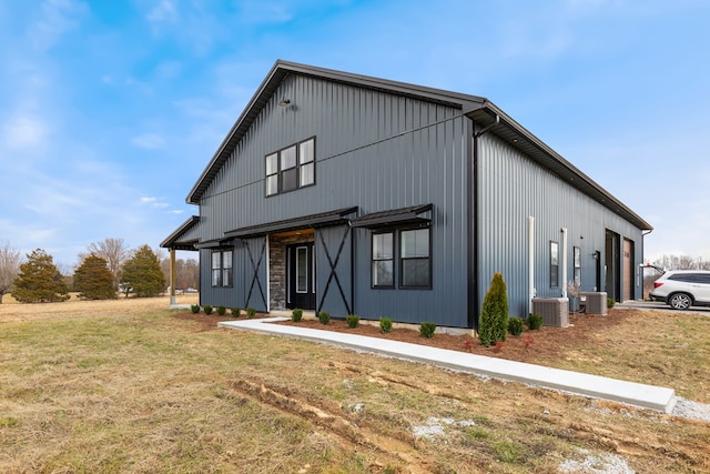
M676 310L710 306L710 271L673 270L656 280L651 300L665 301Z

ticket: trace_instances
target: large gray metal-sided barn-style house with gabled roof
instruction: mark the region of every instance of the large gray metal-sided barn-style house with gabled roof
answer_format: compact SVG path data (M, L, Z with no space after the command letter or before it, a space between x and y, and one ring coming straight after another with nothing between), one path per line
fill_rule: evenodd
M652 228L487 99L276 61L161 246L201 304L476 327L567 282L641 296Z

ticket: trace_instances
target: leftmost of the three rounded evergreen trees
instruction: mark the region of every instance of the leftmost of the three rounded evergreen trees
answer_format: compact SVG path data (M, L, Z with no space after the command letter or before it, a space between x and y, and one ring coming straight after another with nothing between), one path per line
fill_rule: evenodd
M20 303L50 303L69 300L69 288L54 265L52 255L42 249L27 254L14 280L12 297Z

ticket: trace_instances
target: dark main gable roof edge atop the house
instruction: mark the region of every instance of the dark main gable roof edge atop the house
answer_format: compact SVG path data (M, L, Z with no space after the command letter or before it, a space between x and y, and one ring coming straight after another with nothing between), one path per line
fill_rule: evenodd
M462 113L477 122L481 128L490 127L489 133L494 133L507 141L510 145L520 150L537 163L557 174L571 186L575 186L607 209L627 219L637 228L641 230L653 229L641 216L636 214L591 178L582 173L551 148L546 145L541 140L526 130L523 125L508 117L503 112L503 110L488 101L488 99L282 60L275 62L262 84L256 90L254 97L227 133L214 157L197 179L197 182L190 191L186 199L187 203L200 203L200 199L206 191L210 182L219 172L222 164L234 151L239 141L244 137L256 117L275 93L281 82L288 74L308 75L321 80L352 84L359 88L384 91L397 95L412 97L460 109Z

